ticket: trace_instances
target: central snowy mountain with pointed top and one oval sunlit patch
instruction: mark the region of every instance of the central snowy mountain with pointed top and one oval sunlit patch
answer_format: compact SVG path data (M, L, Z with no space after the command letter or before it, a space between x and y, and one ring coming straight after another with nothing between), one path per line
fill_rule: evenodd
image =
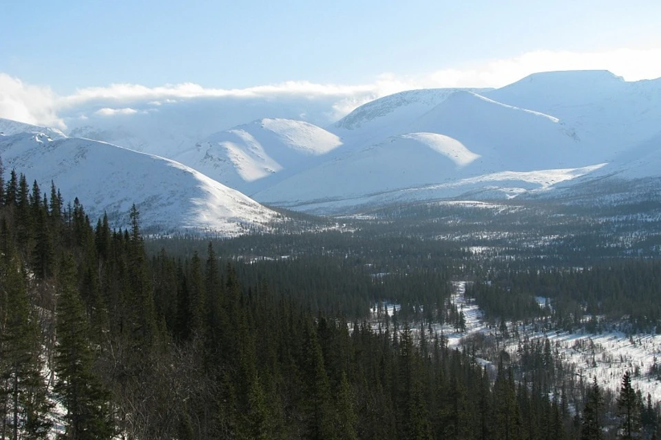
M408 128L415 131L355 148L254 197L314 212L466 192L511 197L595 165L590 149L557 118L471 91L455 91Z

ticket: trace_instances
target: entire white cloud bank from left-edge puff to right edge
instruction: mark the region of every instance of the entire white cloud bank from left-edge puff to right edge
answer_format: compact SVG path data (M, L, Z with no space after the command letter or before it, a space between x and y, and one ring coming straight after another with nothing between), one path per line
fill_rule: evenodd
M607 69L625 80L658 78L661 77L661 47L591 53L539 50L435 72L403 76L386 73L363 85L288 81L246 89L208 89L192 83L160 87L112 84L56 96L48 87L27 85L0 73L0 117L63 127L63 116L127 115L193 98L295 97L330 102L328 112L339 118L364 102L397 91L428 87L501 87L534 72L574 69Z

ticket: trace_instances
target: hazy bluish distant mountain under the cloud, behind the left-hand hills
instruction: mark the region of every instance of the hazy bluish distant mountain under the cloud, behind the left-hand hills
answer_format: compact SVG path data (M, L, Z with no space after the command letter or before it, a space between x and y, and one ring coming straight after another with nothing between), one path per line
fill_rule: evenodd
M67 134L110 142L136 151L174 157L218 131L262 118L290 118L312 124L333 122L337 97L220 96L90 106L84 114L65 117Z

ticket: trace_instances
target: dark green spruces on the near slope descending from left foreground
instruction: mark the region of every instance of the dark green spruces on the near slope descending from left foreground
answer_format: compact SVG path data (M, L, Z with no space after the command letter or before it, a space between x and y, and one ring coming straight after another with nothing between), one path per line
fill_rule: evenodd
M348 325L233 265L92 226L11 173L0 185L6 439L558 439L558 401L495 382L441 336ZM221 267L222 266L222 267ZM531 408L534 408L532 410ZM560 437L558 437L560 436Z

